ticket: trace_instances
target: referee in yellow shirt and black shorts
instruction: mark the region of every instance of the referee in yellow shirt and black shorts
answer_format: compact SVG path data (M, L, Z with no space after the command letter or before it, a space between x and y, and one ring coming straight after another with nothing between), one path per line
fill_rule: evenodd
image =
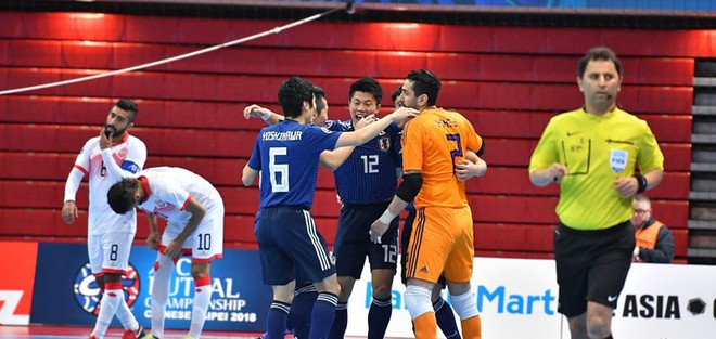
M577 84L585 104L549 121L529 180L560 185L554 258L559 312L572 338L613 338L612 312L636 244L630 198L661 182L664 155L647 121L616 106L622 63L614 52L589 50Z

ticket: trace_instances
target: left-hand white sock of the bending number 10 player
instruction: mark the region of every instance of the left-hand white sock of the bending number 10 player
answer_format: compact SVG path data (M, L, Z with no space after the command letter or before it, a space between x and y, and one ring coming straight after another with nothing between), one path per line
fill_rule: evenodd
M152 284L152 336L164 338L164 317L169 299L169 283L174 271L171 258L158 255L154 264L154 283Z

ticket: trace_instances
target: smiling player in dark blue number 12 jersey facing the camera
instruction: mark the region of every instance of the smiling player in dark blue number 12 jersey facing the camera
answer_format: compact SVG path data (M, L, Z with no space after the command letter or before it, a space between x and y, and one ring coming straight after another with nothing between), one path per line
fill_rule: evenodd
M383 88L371 77L350 84L350 120L328 120L332 131L355 130L361 119L381 108ZM343 338L348 323L348 299L360 278L366 258L370 263L372 300L368 312L368 338L383 338L393 311L392 286L398 260L399 218L395 218L383 242L370 240L370 225L380 218L395 195L400 169L400 128L389 125L371 141L357 146L334 172L335 187L343 204L338 217L333 256L341 285L335 320L329 338Z

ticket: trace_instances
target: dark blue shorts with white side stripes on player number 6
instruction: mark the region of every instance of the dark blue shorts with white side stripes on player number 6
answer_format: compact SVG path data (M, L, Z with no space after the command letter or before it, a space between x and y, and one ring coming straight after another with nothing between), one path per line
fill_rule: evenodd
M256 239L266 285L285 285L296 276L318 283L335 273L323 236L301 207L264 208Z

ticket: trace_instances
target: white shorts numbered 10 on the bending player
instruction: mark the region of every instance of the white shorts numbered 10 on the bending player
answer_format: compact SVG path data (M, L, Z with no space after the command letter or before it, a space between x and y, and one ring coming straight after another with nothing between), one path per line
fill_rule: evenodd
M169 222L162 235L162 247L169 246L186 223ZM192 261L210 262L223 256L223 205L215 206L206 211L196 231L187 238L182 246L182 253L191 251Z

